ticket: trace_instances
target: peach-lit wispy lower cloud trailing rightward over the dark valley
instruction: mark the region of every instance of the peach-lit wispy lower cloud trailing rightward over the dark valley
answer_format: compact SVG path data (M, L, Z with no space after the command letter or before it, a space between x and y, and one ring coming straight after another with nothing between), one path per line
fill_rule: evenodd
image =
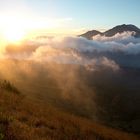
M30 59L40 62L57 62L58 64L78 64L85 66L85 68L91 71L97 70L100 67L110 68L113 71L119 70L119 65L106 57L89 59L73 50L59 50L50 46L45 48L39 47Z

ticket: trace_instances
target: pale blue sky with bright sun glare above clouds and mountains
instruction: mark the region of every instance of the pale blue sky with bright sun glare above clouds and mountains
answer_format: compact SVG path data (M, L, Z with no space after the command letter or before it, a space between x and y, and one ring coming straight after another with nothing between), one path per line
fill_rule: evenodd
M118 24L140 27L139 0L0 0L0 27L42 32L107 30ZM19 27L20 26L20 27Z

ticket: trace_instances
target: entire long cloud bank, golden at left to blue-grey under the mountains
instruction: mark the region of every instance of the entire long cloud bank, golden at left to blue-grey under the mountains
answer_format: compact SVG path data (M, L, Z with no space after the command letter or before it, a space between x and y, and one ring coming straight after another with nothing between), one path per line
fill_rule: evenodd
M2 56L90 67L102 65L117 70L121 61L124 61L120 60L122 56L140 54L140 39L132 34L124 32L113 37L97 35L93 40L82 37L39 37L26 40L21 45L5 46Z

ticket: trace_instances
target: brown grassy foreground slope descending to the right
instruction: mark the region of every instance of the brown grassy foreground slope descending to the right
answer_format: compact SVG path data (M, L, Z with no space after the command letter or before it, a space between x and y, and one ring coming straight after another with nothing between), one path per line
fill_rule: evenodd
M62 112L0 88L0 140L137 140L133 134Z

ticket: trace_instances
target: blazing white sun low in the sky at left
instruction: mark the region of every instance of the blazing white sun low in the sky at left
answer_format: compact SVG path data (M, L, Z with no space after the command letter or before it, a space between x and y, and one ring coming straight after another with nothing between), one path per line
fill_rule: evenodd
M17 43L25 37L26 20L17 14L3 14L0 19L1 33L8 43Z

